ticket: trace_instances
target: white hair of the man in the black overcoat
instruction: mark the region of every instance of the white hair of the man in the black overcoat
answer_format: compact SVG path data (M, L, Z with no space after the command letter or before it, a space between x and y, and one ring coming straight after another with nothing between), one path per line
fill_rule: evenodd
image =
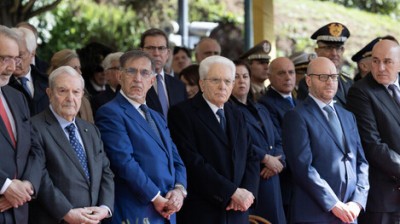
M203 61L200 62L200 67L199 67L199 74L200 74L200 79L204 80L207 78L208 71L210 70L211 66L214 64L221 64L226 67L228 67L231 70L231 78L235 79L235 72L236 72L236 67L235 64L228 58L220 56L220 55L214 55L205 58Z

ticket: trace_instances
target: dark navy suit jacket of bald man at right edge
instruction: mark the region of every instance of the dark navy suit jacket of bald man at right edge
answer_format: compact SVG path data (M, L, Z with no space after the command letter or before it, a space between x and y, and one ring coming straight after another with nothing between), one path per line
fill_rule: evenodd
M400 107L371 74L350 89L347 107L371 165L367 212L400 212Z

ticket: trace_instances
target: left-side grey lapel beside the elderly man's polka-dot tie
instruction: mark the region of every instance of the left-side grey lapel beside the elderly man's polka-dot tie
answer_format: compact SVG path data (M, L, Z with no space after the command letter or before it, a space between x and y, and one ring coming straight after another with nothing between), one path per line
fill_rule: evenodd
M82 165L79 162L74 149L72 148L64 130L62 130L60 124L58 123L57 119L50 111L50 109L46 109L45 111L45 119L48 124L47 130L50 135L53 137L54 142L56 142L59 148L64 151L67 157L71 160L71 162L79 169L79 172L86 180L85 172L83 171ZM81 136L82 138L82 136ZM83 138L82 138L83 140ZM85 148L86 149L86 148ZM87 155L88 157L89 155Z

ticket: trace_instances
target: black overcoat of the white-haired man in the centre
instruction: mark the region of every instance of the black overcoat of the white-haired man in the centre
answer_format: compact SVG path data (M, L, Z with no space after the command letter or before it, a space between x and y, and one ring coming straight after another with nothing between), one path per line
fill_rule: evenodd
M257 197L260 161L242 113L229 103L224 110L227 134L202 93L170 109L168 124L188 172L188 196L178 223L248 222L247 212L226 207L238 187Z

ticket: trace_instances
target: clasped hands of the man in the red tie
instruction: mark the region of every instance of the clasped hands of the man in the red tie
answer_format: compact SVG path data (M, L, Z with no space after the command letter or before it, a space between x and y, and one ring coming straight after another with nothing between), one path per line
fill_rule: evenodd
M22 206L32 199L32 195L33 187L29 181L12 180L3 196L0 196L0 212Z

